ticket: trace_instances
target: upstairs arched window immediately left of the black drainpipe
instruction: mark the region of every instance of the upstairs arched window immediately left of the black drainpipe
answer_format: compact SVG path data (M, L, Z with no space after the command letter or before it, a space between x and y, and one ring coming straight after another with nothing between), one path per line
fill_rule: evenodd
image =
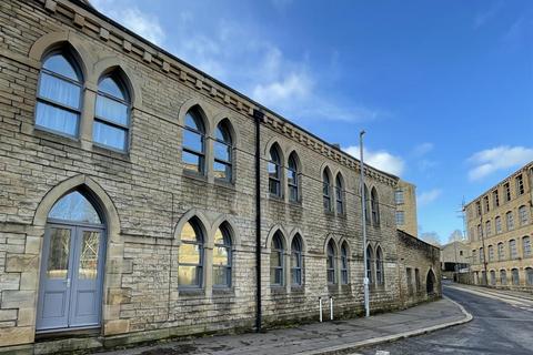
M233 142L228 120L217 125L214 133L214 178L231 182L233 166Z

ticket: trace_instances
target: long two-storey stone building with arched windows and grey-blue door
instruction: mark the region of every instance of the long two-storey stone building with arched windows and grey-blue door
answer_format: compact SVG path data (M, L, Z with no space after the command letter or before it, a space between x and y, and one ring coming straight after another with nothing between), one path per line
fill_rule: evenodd
M0 14L0 351L358 315L364 253L372 312L440 296L398 178L361 189L358 160L86 1Z

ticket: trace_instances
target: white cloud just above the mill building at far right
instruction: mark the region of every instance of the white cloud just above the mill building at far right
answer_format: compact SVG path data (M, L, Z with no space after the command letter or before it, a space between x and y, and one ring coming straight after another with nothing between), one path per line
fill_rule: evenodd
M496 171L517 168L533 161L533 149L501 145L477 152L467 159L473 165L469 171L470 181L481 180Z

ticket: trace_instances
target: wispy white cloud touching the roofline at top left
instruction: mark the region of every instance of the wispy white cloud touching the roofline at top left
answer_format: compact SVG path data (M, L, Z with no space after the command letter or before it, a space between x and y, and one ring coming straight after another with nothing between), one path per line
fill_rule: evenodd
M159 18L153 14L143 13L135 6L120 7L120 4L113 0L91 0L91 4L98 11L107 14L150 42L161 45L167 38Z

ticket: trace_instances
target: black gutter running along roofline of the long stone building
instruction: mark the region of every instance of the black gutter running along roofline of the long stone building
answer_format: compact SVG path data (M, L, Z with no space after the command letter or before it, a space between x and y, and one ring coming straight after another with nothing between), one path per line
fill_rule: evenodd
M356 159L355 156L350 155L349 153L346 153L346 152L344 152L344 151L342 151L342 150L338 150L334 144L324 141L323 139L321 139L321 138L318 136L316 134L314 134L314 133L312 133L312 132L303 129L302 126L295 124L294 122L292 122L292 121L290 121L289 119L282 116L281 114L279 114L279 113L270 110L269 108L262 105L261 103L259 103L259 102L250 99L249 97L247 97L247 95L243 94L242 92L239 92L239 91L237 91L235 89L228 87L227 84L224 84L224 83L221 82L220 80L214 79L214 78L211 77L210 74L201 71L200 69L195 68L194 65L192 65L192 64L183 61L182 59L175 57L174 54L168 52L167 50L162 49L162 48L159 47L158 44L154 44L154 43L150 42L149 40L142 38L141 36L137 34L135 32L133 32L133 31L129 30L128 28L123 27L122 24L118 23L117 21L108 18L105 14L103 14L103 13L101 13L100 11L98 11L97 9L94 9L91 4L88 4L87 1L83 1L83 0L69 0L69 1L76 3L77 6L79 6L80 8L82 8L83 10L86 10L86 11L88 11L88 12L90 12L90 13L97 16L97 17L99 17L100 19L104 20L105 22L110 23L111 26L117 27L117 28L120 29L121 31L128 33L129 36L131 36L131 37L133 37L133 38L135 38L135 39L138 39L139 41L144 42L144 43L148 43L149 45L153 47L154 49L157 49L157 50L158 50L159 52L161 52L162 54L164 54L164 55L167 55L167 57L175 60L177 62L179 62L179 63L182 64L183 67L187 67L187 68L191 69L192 71L198 72L199 74L201 74L202 77L211 80L212 82L214 82L215 84L220 85L221 88L223 88L223 89L225 89L225 90L228 90L228 91L231 91L232 93L237 94L238 97L240 97L240 98L249 101L250 103L257 105L257 106L259 108L259 110L261 110L261 111L263 112L263 115L264 115L264 112L268 112L269 114L276 116L278 119L284 121L285 123L289 123L289 124L293 125L294 128L299 129L300 131L304 132L305 134L308 134L308 135L312 136L313 139L322 142L323 144L328 145L329 148L336 150L339 153L341 153L341 155L344 155L344 156L346 156L346 158L349 158L349 159L352 159L352 160L359 162L359 159ZM383 174L383 175L386 175L386 176L389 176L389 178L391 178L391 179L395 179L395 180L399 180L399 179L400 179L400 178L398 178L398 176L394 175L394 174L388 173L388 172L385 172L385 171L379 170L379 169L376 169L376 168L374 168L374 166L372 166L372 165L368 165L368 164L366 164L366 168L369 168L369 166L372 168L373 170L378 171L379 173L381 173L381 174Z

